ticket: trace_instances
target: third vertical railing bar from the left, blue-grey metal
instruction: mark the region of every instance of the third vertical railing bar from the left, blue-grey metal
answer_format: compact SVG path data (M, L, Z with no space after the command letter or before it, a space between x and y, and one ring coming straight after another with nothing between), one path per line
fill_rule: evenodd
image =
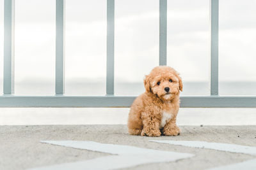
M115 76L115 0L107 2L107 78L106 94L114 94Z

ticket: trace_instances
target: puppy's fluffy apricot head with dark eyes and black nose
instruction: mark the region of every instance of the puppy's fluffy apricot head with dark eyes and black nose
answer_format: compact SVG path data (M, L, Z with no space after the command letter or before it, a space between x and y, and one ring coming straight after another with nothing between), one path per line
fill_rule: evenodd
M182 91L182 80L172 67L158 66L145 76L144 85L147 92L156 94L163 100L172 100Z

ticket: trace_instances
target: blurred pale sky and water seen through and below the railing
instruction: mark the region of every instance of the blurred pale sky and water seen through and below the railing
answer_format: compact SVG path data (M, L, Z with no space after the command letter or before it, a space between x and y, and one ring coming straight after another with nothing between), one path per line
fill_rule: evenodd
M104 96L106 0L65 2L65 95ZM255 7L256 0L220 0L220 96L256 95ZM52 0L15 0L15 95L55 95L55 8ZM168 0L167 65L182 76L181 96L210 94L209 10L205 0ZM0 94L3 15L0 0ZM159 0L116 0L115 95L143 93L145 74L158 64ZM0 108L0 124L125 124L128 113L129 108ZM251 125L255 109L180 108L177 120Z

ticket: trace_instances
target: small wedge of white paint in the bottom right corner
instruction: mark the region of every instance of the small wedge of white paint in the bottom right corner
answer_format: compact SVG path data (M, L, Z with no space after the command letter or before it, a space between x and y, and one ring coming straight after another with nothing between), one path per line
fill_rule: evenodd
M208 170L254 170L256 169L256 159L246 160L237 164L232 164L228 166L214 167Z

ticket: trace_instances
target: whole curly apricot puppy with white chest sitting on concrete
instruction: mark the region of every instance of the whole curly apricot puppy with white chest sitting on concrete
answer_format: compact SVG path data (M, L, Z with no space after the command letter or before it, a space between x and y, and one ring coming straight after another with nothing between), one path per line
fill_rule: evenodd
M182 80L172 67L158 66L144 79L145 93L132 103L128 117L128 131L141 136L177 136L179 94Z

